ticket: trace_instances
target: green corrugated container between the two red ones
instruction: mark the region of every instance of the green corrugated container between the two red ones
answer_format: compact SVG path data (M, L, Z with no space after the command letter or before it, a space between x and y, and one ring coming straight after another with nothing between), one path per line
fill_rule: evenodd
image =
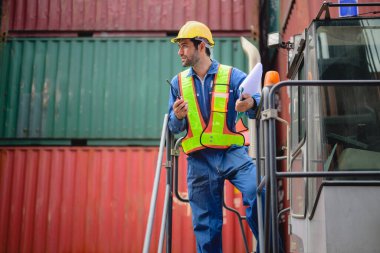
M177 51L168 38L8 40L0 137L156 145L168 110L166 79L183 69ZM238 38L217 38L214 53L246 69Z

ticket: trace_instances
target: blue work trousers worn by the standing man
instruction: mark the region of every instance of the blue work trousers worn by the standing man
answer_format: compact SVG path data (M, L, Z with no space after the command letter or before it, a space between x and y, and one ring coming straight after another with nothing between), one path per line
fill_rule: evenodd
M229 180L248 205L248 224L258 238L256 166L246 147L207 149L188 157L187 184L198 253L222 252L223 188Z

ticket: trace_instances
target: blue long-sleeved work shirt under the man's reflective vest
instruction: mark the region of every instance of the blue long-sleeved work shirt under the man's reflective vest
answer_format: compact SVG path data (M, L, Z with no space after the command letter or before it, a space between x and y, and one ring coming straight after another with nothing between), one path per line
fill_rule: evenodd
M202 113L203 119L207 124L210 118L211 111L211 95L213 89L213 82L215 74L218 72L219 62L212 60L211 66L202 81L197 74L194 72L193 68L190 68L188 76L193 76L195 82L195 92L198 99L198 104L200 111ZM240 97L239 86L246 78L246 74L237 68L232 68L231 80L230 80L230 95L227 106L227 126L230 130L235 131L235 120L237 117L237 112L235 111L235 102ZM187 118L182 120L177 119L173 111L173 104L177 99L177 95L180 95L180 90L178 87L178 75L173 77L172 89L170 89L169 95L169 129L173 134L178 134L187 127ZM256 105L260 103L260 94L254 94L252 98L255 100ZM247 112L249 118L255 117L254 110L250 109Z

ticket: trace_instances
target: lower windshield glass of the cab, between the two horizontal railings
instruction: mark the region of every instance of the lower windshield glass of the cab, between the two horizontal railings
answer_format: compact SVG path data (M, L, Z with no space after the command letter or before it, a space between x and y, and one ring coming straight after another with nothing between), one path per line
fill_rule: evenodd
M324 170L379 170L380 88L319 89Z

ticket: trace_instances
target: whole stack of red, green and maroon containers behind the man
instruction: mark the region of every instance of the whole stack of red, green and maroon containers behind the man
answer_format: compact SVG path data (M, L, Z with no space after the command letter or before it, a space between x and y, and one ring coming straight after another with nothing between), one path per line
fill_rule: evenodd
M166 79L182 70L170 38L204 22L214 57L247 71L239 36L250 37L252 1L0 3L0 252L141 252ZM163 182L160 193L158 207ZM244 214L231 185L226 202ZM195 252L190 207L173 208L173 252ZM223 236L226 252L244 252L230 212Z

